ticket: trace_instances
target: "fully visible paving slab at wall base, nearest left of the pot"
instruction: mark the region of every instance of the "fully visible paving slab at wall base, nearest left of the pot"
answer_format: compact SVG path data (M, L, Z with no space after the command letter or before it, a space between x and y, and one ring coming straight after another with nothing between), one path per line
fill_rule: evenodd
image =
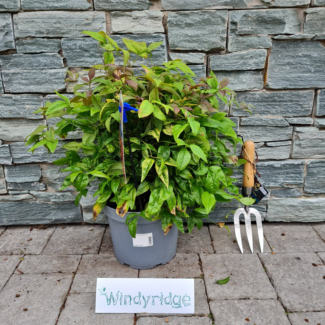
M103 225L66 225L57 227L43 254L97 254Z

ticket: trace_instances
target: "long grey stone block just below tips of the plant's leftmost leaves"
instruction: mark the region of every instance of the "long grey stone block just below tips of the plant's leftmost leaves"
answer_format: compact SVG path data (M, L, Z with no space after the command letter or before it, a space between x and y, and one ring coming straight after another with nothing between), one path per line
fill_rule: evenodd
M28 150L32 145L25 146L23 142L13 142L10 144L10 150L14 163L29 163L29 162L52 162L54 160L65 157L65 150L57 149L54 153L48 154L47 149L38 147L34 153ZM60 166L58 166L61 168Z

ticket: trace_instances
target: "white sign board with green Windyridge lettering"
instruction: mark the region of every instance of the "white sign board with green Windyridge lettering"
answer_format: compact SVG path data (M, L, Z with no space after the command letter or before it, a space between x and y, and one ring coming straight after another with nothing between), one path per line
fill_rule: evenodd
M97 278L96 313L194 314L194 279Z

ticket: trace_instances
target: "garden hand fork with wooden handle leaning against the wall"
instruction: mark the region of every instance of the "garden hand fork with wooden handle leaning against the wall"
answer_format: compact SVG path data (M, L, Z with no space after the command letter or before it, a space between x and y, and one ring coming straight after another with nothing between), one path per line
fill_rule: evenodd
M244 163L243 187L244 187L245 195L247 197L250 197L254 186L254 174L256 172L254 142L245 141L243 146L243 151L244 151L244 159L247 160L247 162ZM246 235L252 253L253 253L253 236L252 236L252 226L251 226L251 214L255 215L258 241L260 243L261 253L263 253L264 237L263 237L261 214L259 213L258 210L254 208L250 208L248 205L245 205L244 208L237 209L234 214L235 235L238 242L238 246L240 248L240 252L243 253L243 246L242 246L241 235L240 235L240 224L239 224L240 214L243 214L245 217Z

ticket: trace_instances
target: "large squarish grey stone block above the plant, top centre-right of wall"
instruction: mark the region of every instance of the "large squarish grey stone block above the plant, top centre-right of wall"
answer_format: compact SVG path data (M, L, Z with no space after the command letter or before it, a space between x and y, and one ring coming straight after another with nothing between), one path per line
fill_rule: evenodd
M170 12L167 19L170 49L196 51L225 49L227 17L227 10Z

